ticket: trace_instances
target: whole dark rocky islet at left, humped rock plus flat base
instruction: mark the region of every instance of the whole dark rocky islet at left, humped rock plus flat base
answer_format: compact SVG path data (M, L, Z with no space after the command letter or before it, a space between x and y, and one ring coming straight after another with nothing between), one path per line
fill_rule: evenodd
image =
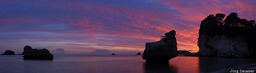
M41 59L41 60L52 60L53 54L47 49L32 49L30 46L25 46L23 48L22 57L24 59Z

